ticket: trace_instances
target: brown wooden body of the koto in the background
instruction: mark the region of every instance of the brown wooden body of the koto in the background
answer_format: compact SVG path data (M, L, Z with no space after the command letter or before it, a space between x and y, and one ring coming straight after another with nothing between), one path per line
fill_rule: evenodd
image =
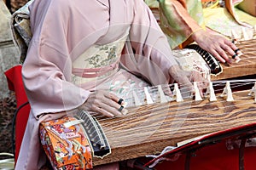
M240 56L241 60L238 63L233 60L232 65L221 64L223 72L218 76L212 76L212 80L256 75L256 39L236 42L236 46L243 53Z

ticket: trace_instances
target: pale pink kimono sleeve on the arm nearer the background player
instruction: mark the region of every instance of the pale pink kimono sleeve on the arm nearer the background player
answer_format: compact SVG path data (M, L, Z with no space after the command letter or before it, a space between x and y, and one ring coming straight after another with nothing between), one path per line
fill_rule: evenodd
M142 0L136 0L134 4L134 18L128 45L131 44L131 60L136 68L129 65L127 67L154 85L168 83L172 79L168 71L172 65L177 65L177 62L166 36L160 30L148 6Z

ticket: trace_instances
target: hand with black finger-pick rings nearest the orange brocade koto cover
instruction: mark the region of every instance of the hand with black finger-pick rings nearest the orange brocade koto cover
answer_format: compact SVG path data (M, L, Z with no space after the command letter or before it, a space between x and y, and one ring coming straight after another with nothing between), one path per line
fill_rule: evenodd
M118 102L119 98L115 94L104 90L97 90L89 95L89 98L79 109L92 111L108 117L123 116L128 111L123 108L124 101L122 101L121 105Z

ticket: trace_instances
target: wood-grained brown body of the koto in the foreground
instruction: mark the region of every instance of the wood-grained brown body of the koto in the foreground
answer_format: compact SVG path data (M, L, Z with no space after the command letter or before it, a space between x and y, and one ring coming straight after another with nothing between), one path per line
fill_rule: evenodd
M158 154L166 146L231 127L256 122L256 104L249 91L233 92L235 101L208 99L129 108L124 117L98 119L112 153L94 158L94 165Z

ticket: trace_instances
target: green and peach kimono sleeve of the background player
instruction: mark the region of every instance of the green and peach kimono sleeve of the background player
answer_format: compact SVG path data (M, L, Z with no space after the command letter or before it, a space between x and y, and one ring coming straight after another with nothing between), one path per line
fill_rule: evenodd
M176 48L204 28L201 1L160 0L160 26L171 48Z

